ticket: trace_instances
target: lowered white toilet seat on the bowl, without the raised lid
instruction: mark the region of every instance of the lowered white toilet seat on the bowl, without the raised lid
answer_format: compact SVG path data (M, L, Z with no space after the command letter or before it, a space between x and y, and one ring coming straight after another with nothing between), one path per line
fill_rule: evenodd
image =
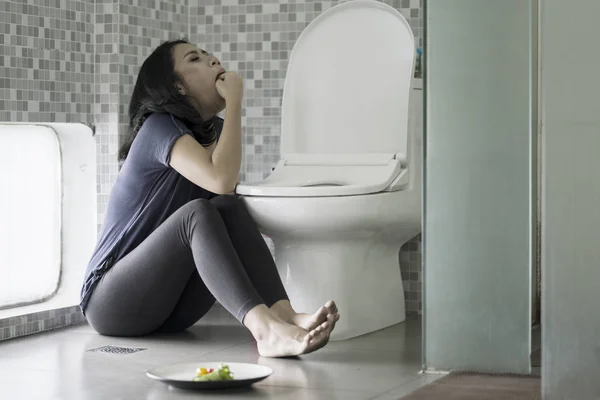
M408 184L400 153L288 154L264 181L238 185L237 194L265 197L356 196L401 190Z

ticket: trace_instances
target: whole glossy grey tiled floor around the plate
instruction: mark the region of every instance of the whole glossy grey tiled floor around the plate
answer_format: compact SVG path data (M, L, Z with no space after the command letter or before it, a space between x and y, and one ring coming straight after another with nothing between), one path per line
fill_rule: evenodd
M143 347L126 354L86 352L104 345ZM146 377L177 362L264 364L273 375L249 389L192 392ZM110 338L87 325L0 342L2 399L399 399L438 376L420 375L420 319L409 318L363 337L331 342L300 359L262 358L250 333L222 308L189 331L145 338Z

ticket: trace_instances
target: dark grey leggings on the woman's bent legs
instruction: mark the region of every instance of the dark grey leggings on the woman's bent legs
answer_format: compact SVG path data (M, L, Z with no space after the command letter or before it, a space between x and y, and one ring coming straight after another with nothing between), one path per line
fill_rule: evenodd
M108 336L180 332L215 303L240 322L287 294L256 223L235 196L193 200L105 273L86 307Z

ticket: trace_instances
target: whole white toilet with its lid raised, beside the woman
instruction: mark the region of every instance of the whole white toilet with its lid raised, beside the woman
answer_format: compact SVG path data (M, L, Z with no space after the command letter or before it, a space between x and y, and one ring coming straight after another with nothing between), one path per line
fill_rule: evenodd
M296 311L336 301L331 340L405 319L398 254L421 231L414 55L408 22L386 4L349 1L319 15L290 56L280 161L236 189L273 241Z

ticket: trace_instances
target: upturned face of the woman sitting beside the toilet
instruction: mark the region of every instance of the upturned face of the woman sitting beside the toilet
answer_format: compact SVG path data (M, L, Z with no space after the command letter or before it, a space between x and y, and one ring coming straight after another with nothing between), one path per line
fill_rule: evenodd
M179 93L186 96L203 119L208 119L225 108L225 100L216 88L217 77L225 72L221 62L198 47L180 43L173 48L175 73L181 78Z

